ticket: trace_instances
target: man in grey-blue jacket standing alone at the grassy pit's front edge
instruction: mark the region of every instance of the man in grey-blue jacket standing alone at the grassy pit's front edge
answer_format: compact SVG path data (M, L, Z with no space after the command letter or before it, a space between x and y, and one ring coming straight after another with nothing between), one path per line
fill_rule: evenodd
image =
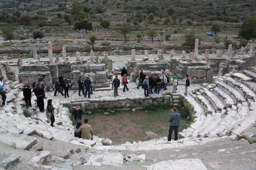
M170 129L168 135L168 141L171 141L172 131L174 130L174 140L178 140L178 128L180 126L180 114L176 112L177 108L172 107L172 115L170 115L168 122L170 122Z

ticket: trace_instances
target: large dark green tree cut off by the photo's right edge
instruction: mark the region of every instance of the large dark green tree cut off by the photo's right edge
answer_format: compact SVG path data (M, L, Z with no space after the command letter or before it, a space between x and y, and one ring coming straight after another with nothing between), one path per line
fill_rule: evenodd
M244 19L243 24L240 26L241 30L238 35L243 38L256 38L256 17L247 17Z

